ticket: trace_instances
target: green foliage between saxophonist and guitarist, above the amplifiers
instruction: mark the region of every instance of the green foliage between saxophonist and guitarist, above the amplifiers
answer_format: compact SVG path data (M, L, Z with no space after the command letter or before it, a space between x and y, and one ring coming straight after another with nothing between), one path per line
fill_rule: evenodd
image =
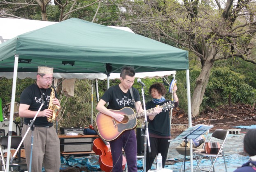
M58 127L88 127L88 125L91 124L92 112L94 122L95 115L97 114L97 102L95 99L95 92L93 93L92 102L91 86L91 80L77 79L74 86L74 97L66 97L63 93L60 93L62 110L58 115Z

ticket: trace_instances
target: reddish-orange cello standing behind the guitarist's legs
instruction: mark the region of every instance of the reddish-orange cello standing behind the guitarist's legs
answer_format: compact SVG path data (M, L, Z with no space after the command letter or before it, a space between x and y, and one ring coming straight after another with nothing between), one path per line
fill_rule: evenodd
M107 147L107 145L108 143L101 138L96 138L95 140L93 140L93 151L96 155L99 155L100 169L105 172L111 172L113 168L113 160L111 150L109 149L109 147ZM124 170L125 167L126 158L123 156L122 169Z

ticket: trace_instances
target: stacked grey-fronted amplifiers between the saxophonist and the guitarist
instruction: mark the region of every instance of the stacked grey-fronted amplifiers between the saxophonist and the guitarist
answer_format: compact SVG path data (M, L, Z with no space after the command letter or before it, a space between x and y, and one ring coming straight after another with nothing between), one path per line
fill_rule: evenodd
M60 134L67 133L77 133L84 134L84 128L79 127L70 127L70 128L60 128ZM93 147L93 139L92 138L67 138L60 139L61 142L61 152L91 152ZM91 142L90 144L76 144L79 142ZM70 145L65 145L65 143L69 143ZM74 145L72 145L74 143ZM63 144L63 145L62 145Z

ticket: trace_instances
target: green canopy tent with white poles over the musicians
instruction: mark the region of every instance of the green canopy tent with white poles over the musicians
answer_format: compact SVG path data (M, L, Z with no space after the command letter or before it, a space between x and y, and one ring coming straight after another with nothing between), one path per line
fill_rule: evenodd
M186 70L191 126L187 51L123 30L71 18L0 44L0 72L14 72L9 132L12 131L17 72L37 72L37 66L54 67L54 72L61 73L107 75L119 73L123 66L133 66L136 72Z

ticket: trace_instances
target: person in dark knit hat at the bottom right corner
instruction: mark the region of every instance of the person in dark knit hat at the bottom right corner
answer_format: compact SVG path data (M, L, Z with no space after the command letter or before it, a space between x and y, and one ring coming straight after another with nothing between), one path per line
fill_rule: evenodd
M256 172L256 129L249 129L244 136L244 152L249 154L250 160L237 168L234 172Z

